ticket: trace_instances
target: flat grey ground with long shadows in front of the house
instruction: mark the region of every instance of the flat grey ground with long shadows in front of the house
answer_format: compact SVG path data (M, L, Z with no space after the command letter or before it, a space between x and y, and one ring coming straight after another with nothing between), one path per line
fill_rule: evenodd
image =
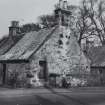
M0 89L0 105L105 105L105 87Z

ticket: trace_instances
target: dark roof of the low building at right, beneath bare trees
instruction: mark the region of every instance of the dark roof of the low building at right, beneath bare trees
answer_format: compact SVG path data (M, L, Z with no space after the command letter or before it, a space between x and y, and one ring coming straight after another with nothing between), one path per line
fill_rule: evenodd
M92 47L88 52L88 57L91 60L91 66L105 66L105 46Z

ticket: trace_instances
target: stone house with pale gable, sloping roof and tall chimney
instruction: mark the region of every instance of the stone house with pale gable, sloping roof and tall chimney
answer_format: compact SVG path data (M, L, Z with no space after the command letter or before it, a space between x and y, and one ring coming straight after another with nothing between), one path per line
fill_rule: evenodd
M33 86L50 83L51 75L82 75L90 72L89 61L76 37L71 34L70 15L67 2L60 1L55 10L56 26L21 35L11 47L5 48L6 51L0 55L3 84L8 82L10 73L14 71L18 72L18 80L23 79ZM16 38L17 23L14 22L12 26L10 35L16 35ZM30 74L32 77L29 77Z

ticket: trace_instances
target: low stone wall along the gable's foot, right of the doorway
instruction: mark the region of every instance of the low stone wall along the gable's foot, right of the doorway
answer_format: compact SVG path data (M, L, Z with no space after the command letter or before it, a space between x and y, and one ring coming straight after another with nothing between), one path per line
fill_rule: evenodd
M65 85L67 87L86 87L86 86L102 86L100 75L93 74L72 74L65 77ZM50 77L49 81L52 87L63 87L63 77Z

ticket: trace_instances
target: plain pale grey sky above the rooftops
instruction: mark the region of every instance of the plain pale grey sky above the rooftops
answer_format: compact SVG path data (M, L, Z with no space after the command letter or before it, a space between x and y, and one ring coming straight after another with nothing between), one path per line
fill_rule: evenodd
M38 16L50 14L58 0L0 0L0 38L8 34L12 20L20 25L38 21ZM80 0L68 0L78 5Z

